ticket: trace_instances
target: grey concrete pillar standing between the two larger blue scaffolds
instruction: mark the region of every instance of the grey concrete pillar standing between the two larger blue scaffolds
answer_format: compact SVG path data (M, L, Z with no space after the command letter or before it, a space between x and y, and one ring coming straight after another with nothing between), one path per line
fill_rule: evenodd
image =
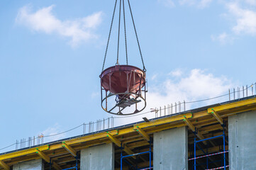
M154 169L188 170L187 127L154 133Z

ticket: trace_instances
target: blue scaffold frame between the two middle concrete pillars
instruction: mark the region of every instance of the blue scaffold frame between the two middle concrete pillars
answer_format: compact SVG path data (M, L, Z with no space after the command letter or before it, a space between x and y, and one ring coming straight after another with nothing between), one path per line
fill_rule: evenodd
M150 149L149 149L149 151L146 151L146 152L139 152L139 153L136 153L136 154L129 154L129 155L126 155L126 156L123 156L123 147L120 147L121 148L121 157L120 157L120 159L121 159L121 162L120 162L120 164L121 164L121 170L123 169L123 162L126 162L131 168L133 168L134 170L146 170L146 169L153 169L153 166L152 166L152 164L151 164L151 158L152 158L152 149L151 149L151 144L152 144L152 140L150 140ZM136 160L138 159L138 155L140 155L140 154L150 154L150 166L148 166L148 167L144 167L143 169L138 169L138 166L137 166L137 164L136 164L136 166L133 166L132 164L130 164L130 162L128 162L127 160L126 160L126 158L128 158L128 157L134 157L134 156L136 156Z

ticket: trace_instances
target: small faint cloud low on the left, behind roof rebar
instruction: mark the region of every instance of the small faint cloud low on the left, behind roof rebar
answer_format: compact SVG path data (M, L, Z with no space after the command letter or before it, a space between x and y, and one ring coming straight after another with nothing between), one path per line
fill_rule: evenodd
M46 130L44 130L42 132L43 136L44 136L44 142L51 142L51 141L55 141L55 140L60 140L63 139L65 137L65 133L62 133L60 135L56 135L58 133L60 133L60 125L59 124L55 124L52 127L47 128ZM52 135L50 137L45 137L48 135Z

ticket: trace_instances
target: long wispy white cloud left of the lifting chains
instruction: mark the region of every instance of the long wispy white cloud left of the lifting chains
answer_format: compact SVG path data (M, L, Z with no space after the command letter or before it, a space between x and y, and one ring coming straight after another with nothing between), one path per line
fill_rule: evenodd
M69 44L73 47L80 42L97 38L95 28L101 23L101 12L84 18L77 18L72 21L61 21L52 14L52 6L41 8L34 13L30 6L23 6L19 9L16 23L27 26L31 30L47 34L58 34L70 38Z

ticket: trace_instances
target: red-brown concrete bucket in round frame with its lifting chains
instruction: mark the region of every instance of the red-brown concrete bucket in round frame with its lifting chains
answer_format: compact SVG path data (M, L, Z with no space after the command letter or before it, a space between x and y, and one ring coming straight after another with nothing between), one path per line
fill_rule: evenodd
M126 18L125 18L125 4L124 0L119 3L119 22L118 22L118 47L116 65L104 69L106 54L108 51L108 43L111 37L111 30L113 26L113 19L115 16L116 0L111 27L108 35L108 42L106 45L106 52L104 57L104 64L100 75L101 79L101 107L104 111L116 115L131 115L143 111L146 106L146 76L143 56L140 50L140 43L138 41L137 31L133 20L133 13L130 8L130 1L127 0L130 9L130 16L133 21L133 28L138 42L140 57L143 63L143 69L128 65L128 50L126 42ZM119 40L120 40L120 22L121 22L121 7L123 6L123 21L124 21L124 35L126 44L126 64L119 64Z

